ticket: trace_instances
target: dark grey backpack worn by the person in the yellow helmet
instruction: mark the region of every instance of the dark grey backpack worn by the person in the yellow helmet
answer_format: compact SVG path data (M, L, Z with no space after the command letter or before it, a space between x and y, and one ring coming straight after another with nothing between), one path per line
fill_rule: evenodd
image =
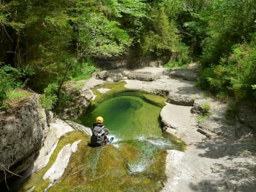
M90 145L92 147L99 147L103 145L104 142L104 136L105 136L105 131L104 131L104 125L94 125L92 129L92 137L91 137L91 142Z

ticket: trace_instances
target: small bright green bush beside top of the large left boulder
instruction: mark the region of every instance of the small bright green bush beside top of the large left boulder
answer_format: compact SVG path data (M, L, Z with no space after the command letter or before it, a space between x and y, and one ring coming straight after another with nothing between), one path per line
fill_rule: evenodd
M54 108L54 105L58 100L58 87L58 84L50 83L47 88L44 89L44 94L42 94L40 98L40 106L42 108L45 108L46 110Z

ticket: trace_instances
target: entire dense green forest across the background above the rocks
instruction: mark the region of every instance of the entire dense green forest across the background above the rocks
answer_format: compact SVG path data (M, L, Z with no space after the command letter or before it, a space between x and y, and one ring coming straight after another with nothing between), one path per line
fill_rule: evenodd
M63 82L88 77L95 58L132 52L170 66L200 61L199 86L256 99L255 29L256 0L3 0L0 105L27 86L52 108Z

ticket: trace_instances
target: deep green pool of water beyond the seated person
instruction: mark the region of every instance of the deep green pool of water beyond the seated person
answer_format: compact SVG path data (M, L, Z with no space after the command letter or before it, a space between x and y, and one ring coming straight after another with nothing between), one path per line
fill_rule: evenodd
M81 121L92 127L95 118L102 116L110 134L119 140L159 137L162 134L158 118L160 110L140 97L120 96L102 102Z

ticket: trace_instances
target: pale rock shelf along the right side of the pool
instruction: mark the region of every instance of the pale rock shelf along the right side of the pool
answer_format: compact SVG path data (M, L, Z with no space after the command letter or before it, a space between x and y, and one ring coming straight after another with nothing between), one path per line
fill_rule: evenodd
M256 191L255 111L241 106L230 124L228 101L211 99L179 77L125 80L126 88L168 97L160 115L164 129L187 144L184 152L168 150L162 191Z

